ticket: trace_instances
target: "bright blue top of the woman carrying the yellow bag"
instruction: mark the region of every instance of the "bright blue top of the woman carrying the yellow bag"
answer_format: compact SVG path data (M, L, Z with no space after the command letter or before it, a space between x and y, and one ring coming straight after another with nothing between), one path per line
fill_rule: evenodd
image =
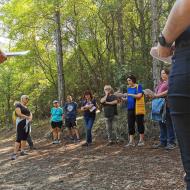
M137 89L137 87L128 87L127 88L127 93L128 94L143 93L142 86L139 84L138 89ZM136 102L136 99L134 97L128 96L127 97L127 109L128 110L134 110L135 109L135 102Z

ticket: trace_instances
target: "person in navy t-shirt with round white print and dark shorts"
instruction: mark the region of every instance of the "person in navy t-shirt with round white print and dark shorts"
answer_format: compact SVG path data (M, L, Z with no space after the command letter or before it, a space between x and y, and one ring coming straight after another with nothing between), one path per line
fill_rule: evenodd
M76 117L77 117L78 105L73 101L72 96L67 96L67 102L65 103L63 109L65 114L65 126L69 130L69 136L71 139L76 135L76 141L80 142L79 131L77 129Z

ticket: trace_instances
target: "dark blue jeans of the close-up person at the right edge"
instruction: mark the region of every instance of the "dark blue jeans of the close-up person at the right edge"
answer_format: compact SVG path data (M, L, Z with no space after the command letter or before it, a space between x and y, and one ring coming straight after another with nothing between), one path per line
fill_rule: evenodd
M190 190L190 47L177 49L169 77L169 106Z

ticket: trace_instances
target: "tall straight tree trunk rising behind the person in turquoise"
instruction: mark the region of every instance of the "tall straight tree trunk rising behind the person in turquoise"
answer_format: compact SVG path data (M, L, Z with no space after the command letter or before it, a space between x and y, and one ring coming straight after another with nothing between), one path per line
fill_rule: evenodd
M65 99L65 81L63 72L63 48L62 48L62 38L61 38L61 22L60 22L60 11L55 12L55 40L56 40L56 54L57 54L57 73L58 73L58 99L60 104L62 104Z

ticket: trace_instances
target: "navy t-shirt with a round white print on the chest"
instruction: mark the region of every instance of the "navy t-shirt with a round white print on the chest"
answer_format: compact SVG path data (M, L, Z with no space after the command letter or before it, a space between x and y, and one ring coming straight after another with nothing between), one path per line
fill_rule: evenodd
M64 109L66 119L76 119L76 116L77 116L76 102L65 103L63 109Z

